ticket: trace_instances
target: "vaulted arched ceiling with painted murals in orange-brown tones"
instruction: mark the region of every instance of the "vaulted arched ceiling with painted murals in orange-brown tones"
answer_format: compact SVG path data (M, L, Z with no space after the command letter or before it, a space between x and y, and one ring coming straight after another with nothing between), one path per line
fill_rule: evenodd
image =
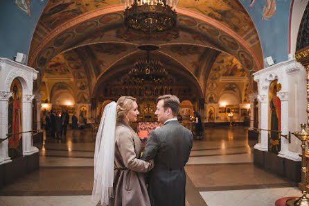
M249 82L263 68L258 33L238 0L179 0L177 28L164 33L128 30L123 9L119 0L48 1L28 55L28 65L41 71L37 89L43 78L71 76L78 92L94 98L107 74L127 72L145 54L141 44L159 46L151 55L187 76L204 98L209 85L229 77Z

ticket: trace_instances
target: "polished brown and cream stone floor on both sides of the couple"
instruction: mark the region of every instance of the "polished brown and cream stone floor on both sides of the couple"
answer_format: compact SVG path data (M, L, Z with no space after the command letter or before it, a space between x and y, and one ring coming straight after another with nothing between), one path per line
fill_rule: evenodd
M96 205L94 181L95 130L68 130L52 139L44 133L38 171L0 190L0 205ZM247 128L206 128L194 140L186 165L186 206L274 205L285 196L300 196L295 182L258 169L253 164Z

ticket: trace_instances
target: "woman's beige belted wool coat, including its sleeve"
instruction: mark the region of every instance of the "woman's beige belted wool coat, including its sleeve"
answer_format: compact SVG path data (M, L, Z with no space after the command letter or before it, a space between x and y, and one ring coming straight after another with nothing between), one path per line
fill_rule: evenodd
M114 198L110 206L151 206L144 173L153 164L140 160L141 140L125 122L116 124Z

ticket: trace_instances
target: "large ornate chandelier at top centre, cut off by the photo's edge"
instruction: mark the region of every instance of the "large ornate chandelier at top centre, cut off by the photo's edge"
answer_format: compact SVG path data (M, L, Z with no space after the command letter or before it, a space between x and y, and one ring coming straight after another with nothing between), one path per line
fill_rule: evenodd
M176 0L125 0L125 26L147 33L176 26Z

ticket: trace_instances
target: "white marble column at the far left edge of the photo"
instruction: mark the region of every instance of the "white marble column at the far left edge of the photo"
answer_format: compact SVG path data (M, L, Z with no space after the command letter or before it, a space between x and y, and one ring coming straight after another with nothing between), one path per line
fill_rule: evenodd
M8 98L12 92L0 92L0 139L6 139L8 134ZM0 141L1 141L0 140ZM0 143L0 164L12 162L8 156L8 139Z

